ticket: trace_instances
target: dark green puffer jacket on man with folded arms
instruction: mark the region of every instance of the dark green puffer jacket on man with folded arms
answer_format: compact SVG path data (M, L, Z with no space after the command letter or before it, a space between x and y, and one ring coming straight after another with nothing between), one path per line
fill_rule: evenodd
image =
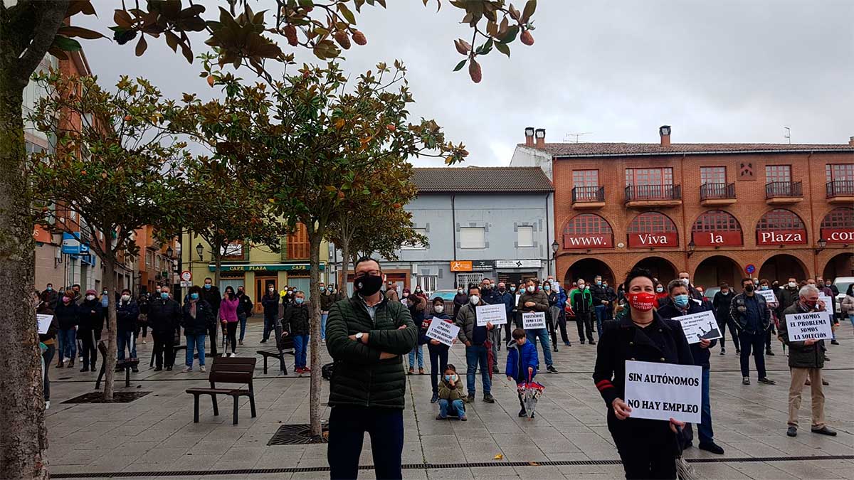
M383 300L371 319L358 293L337 301L326 320L326 348L335 360L330 381L329 405L390 408L402 410L407 378L401 362L418 345L418 328L400 301ZM398 330L401 326L406 328ZM368 333L368 344L350 340ZM380 353L397 356L380 360Z

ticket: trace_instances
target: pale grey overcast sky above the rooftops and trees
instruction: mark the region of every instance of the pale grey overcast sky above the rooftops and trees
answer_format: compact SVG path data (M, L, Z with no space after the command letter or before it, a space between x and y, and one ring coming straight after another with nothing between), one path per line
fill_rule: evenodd
M75 20L111 33L114 0L95 3L102 20ZM453 39L471 39L458 23L462 10L443 2L436 13L435 0L429 8L421 0L388 3L387 10L362 10L357 20L368 44L347 51L343 66L360 73L377 61L404 61L412 118L433 118L447 138L464 142L467 165L507 165L525 126L545 128L547 142L589 132L582 141L654 143L664 124L673 126L674 143L785 143L783 126L791 127L792 143L854 136L850 0L540 0L535 44L512 44L509 60L497 51L484 57L478 85L465 69L451 71L462 59ZM516 3L521 9L524 1ZM196 53L205 48L201 40ZM200 67L162 38L149 40L142 58L133 56L133 44L108 40L85 41L84 50L102 85L129 74L169 97L216 93L199 78ZM305 52L298 60L316 61Z

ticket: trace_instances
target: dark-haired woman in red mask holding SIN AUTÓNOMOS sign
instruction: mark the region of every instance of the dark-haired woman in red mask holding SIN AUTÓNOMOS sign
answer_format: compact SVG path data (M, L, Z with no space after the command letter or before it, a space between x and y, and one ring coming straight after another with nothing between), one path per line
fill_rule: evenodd
M626 478L676 478L676 427L684 423L633 419L625 398L626 360L693 366L691 349L679 322L662 319L655 306L652 273L635 268L626 278L629 310L603 324L593 374L608 409L608 430L617 444Z

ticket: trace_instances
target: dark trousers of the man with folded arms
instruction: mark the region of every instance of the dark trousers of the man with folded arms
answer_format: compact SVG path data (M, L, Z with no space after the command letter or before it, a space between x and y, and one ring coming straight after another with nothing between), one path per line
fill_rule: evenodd
M371 436L377 480L402 478L403 410L342 406L332 407L329 415L330 478L359 477L365 432Z

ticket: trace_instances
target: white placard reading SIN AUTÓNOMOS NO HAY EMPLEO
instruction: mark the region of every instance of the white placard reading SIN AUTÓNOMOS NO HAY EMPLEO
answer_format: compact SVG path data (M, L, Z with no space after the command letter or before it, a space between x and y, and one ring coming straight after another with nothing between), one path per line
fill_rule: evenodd
M702 366L626 360L626 403L631 418L699 424Z

